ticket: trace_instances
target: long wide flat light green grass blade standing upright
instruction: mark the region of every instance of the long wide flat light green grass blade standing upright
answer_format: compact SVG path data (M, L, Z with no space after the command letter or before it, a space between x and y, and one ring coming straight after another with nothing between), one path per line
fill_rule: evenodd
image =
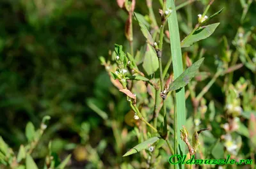
M167 8L171 8L172 15L168 18L168 27L170 33L170 44L172 50L172 61L173 61L173 74L174 78L179 77L179 75L183 72L183 64L182 64L182 54L180 47L180 36L179 36L179 25L177 19L177 13L175 10L174 0L167 0L166 2ZM182 125L186 123L186 103L185 103L185 90L184 87L179 91L176 91L175 97L175 105L177 110L174 112L174 124L177 124L177 128L174 129L174 152L175 154L184 154L185 153L185 145L184 142L178 137L180 129L182 129ZM177 114L179 112L179 114ZM179 147L179 149L178 149ZM175 168L177 165L175 165ZM181 165L181 168L184 168L184 165Z

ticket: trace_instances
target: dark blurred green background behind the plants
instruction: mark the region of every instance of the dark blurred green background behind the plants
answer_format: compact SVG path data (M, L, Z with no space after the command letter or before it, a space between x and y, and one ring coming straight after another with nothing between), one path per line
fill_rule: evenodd
M183 2L176 1L177 4ZM179 10L182 39L189 33L186 12L192 11L195 25L198 13L204 11L207 3L196 1ZM159 20L159 2L153 4ZM214 18L221 22L216 32L198 43L207 51L204 69L211 72L216 71L212 62L214 55L221 53L222 36L227 36L231 44L238 27L243 26L246 31L256 25L255 1L243 24L240 22L241 1L216 0L209 13L223 7L223 12ZM135 11L147 14L146 1L138 0ZM113 130L125 128L120 131L122 134L131 130L124 123L129 107L98 59L100 55L109 57L114 43L129 49L124 35L126 19L127 13L115 0L0 1L0 135L14 150L26 143L24 129L28 121L38 127L42 117L50 115L49 128L34 154L38 163L45 156L44 148L50 140L54 152L60 156L74 155L70 168L118 168L119 163L129 161L121 155L134 144L116 148L116 135L120 133ZM144 42L134 22L134 49L140 49ZM164 48L170 46L166 44ZM189 48L188 52L193 53L192 50ZM167 60L168 56L163 58ZM255 74L246 67L237 71L234 79L238 80L241 75L256 81ZM220 87L221 83L217 82L208 95L221 108L225 98ZM118 117L114 115L114 118L113 112L117 112ZM110 118L117 122L108 121ZM132 136L131 140L136 138Z

